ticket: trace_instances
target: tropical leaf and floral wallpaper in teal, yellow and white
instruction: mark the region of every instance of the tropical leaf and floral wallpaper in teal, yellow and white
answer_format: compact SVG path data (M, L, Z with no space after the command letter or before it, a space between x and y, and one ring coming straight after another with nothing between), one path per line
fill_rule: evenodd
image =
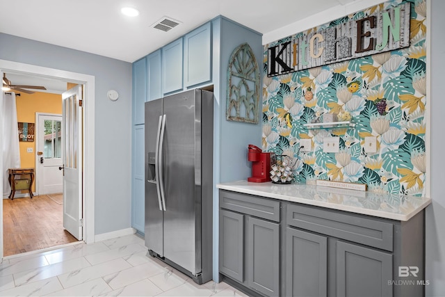
M402 2L411 3L410 47L404 49L267 77L267 49L274 43L264 46L262 146L293 156L293 182L327 179L367 184L378 193L425 195L426 1L387 1L312 30ZM324 113L355 127L307 129ZM332 136L339 137L339 152L323 152L324 139ZM377 152L364 150L366 136L376 138ZM305 138L310 152L299 151Z

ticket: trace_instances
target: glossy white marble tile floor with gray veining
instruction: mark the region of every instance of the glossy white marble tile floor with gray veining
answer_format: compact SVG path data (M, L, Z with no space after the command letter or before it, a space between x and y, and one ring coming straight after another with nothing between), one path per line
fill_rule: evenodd
M5 257L0 296L247 296L225 282L195 284L146 255L134 234Z

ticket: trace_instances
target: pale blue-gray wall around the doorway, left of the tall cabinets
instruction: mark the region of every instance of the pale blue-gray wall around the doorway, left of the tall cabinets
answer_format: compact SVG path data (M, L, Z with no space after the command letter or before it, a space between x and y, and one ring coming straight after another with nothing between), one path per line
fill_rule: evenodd
M95 234L131 227L131 63L3 33L0 59L95 77Z

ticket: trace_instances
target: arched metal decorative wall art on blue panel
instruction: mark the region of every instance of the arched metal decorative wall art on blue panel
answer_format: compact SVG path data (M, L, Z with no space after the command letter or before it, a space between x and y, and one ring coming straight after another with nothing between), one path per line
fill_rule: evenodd
M237 47L227 67L227 120L258 123L259 67L247 43Z

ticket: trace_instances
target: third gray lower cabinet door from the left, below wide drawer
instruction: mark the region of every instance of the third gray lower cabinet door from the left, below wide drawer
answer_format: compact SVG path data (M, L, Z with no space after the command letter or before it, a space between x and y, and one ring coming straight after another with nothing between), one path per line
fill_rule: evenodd
M327 237L286 228L286 296L327 296Z

